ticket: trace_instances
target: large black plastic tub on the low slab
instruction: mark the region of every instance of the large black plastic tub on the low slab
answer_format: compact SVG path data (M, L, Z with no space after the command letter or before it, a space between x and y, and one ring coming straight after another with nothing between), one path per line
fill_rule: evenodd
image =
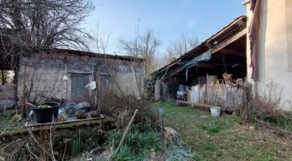
M33 117L35 118L35 121L37 123L52 122L52 116L54 116L54 118L58 118L60 103L45 102L43 104L37 104L35 106L38 106L38 105L49 105L51 107L46 108L46 109L33 108Z

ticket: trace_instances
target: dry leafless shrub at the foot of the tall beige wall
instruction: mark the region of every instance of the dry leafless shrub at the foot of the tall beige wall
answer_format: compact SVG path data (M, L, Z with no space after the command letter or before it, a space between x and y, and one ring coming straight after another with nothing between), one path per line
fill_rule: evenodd
M247 84L244 88L242 104L235 107L235 111L245 121L259 123L261 121L271 123L288 123L291 118L281 109L282 90L278 84L271 82L264 91L253 91Z

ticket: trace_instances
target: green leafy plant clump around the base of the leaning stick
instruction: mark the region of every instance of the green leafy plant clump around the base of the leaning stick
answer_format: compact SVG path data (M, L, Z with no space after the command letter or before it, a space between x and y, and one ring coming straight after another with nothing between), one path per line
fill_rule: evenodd
M107 145L116 149L123 136L124 129L111 131ZM143 160L150 157L151 150L160 152L162 150L162 140L155 130L147 129L140 131L139 126L133 126L123 145L113 160Z

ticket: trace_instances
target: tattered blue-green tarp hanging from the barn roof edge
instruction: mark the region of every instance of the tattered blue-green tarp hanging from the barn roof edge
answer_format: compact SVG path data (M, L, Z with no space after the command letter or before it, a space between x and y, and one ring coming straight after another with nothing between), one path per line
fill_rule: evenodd
M186 80L188 80L188 72L189 72L190 67L197 65L198 62L208 61L210 59L211 59L211 51L208 50L206 52L203 52L203 54L198 55L198 57L193 58L189 62L186 62L186 64L183 67L181 67L181 70L186 69Z

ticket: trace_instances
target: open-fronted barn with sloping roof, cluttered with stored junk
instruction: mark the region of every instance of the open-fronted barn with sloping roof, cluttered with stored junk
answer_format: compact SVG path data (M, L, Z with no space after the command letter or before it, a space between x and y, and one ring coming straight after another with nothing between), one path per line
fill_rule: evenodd
M243 84L247 76L246 21L246 16L236 18L196 48L154 72L155 99L201 104L230 99L228 90ZM232 103L228 104L227 101L226 106Z

